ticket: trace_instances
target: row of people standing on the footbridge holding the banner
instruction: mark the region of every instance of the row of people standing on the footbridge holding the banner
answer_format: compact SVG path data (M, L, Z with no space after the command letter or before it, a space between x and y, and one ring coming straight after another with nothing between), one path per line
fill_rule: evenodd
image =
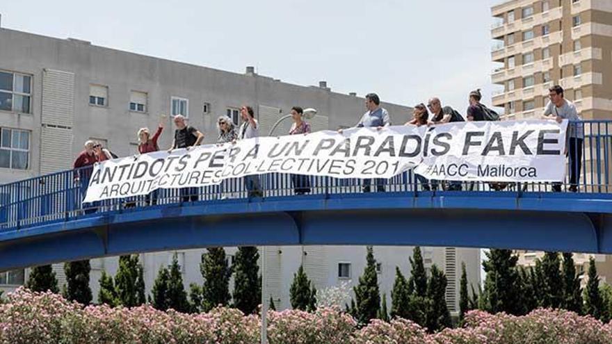
M482 95L480 90L474 90L469 93L469 106L465 112L465 117L451 106L442 106L442 101L439 98L433 97L429 99L428 104L423 103L414 106L412 111L412 119L405 125L423 126L435 125L451 122L467 121L485 121L499 120L499 115L493 110L490 110L481 104ZM549 102L542 113L542 118L547 120L555 120L561 122L563 120L580 121L576 106L571 101L565 99L563 88L559 85L554 85L549 89ZM378 130L391 125L391 117L387 110L380 106L380 98L375 93L369 93L365 97L366 113L355 127L374 127ZM431 113L431 115L430 115ZM259 124L255 118L255 112L251 106L241 106L240 108L241 124L234 124L232 119L227 116L221 116L217 120L218 128L218 143L236 142L236 140L257 138L259 137ZM293 106L291 108L291 117L293 125L289 130L289 135L307 134L311 132L311 126L303 119L303 108ZM151 135L148 128L138 129L138 152L137 154L147 154L154 151L159 151L158 140L161 136L166 116L161 116L159 126L155 133ZM186 123L186 118L183 115L173 117L175 124L175 133L172 139L172 145L168 152L174 149L193 149L200 145L204 139L204 133L195 129ZM339 133L343 130L339 129ZM567 151L570 165L570 188L572 192L576 192L579 184L579 175L581 170L581 154L583 145L583 130L581 126L570 126L567 134ZM74 161L73 167L79 169L81 167L92 166L95 163L106 161L112 158L117 158L108 149L102 147L100 142L88 140L85 142L85 149L81 151L79 156ZM86 170L86 169L85 169ZM439 181L427 180L422 176L416 176L421 187L424 190L436 190L440 184ZM81 189L86 190L88 184L88 175L83 172L75 174L75 179L81 181ZM263 197L263 190L259 176L250 175L244 177L248 197ZM291 183L296 195L304 195L310 193L311 186L309 177L303 175L291 175ZM462 183L459 181L447 181L443 183L442 188L445 190L462 190ZM371 180L364 179L362 183L364 193L371 191ZM561 191L561 183L553 184L554 191ZM376 191L385 191L385 181L376 179ZM198 201L198 188L182 188L180 194L183 202ZM146 196L147 204L155 204L157 199L157 190L154 190L150 195ZM131 202L134 203L134 202ZM130 204L130 202L128 202Z

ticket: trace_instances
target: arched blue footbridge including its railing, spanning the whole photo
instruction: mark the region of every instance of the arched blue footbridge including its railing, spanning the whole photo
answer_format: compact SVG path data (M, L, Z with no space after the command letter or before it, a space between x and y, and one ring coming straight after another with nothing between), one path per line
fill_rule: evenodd
M586 133L577 193L513 183L492 190L423 190L412 172L362 192L362 180L310 177L295 195L287 174L261 175L263 197L239 179L182 202L111 199L83 208L74 170L0 186L0 270L136 252L241 245L426 245L612 253L612 135ZM595 132L595 131L593 131ZM373 188L376 189L376 188Z

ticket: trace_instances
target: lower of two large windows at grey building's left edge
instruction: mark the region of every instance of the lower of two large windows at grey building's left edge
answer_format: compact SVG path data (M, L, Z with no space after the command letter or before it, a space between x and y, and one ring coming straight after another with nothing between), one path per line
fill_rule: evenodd
M27 170L30 156L30 132L18 129L0 130L0 167Z

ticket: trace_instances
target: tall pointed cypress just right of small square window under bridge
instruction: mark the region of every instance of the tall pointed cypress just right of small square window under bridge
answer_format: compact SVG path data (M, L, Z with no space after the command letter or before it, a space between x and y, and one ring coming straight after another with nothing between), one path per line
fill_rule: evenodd
M376 275L376 259L373 249L367 247L366 267L363 275L359 277L359 284L353 288L357 322L365 326L371 319L376 319L380 309L380 292L378 290L378 276Z

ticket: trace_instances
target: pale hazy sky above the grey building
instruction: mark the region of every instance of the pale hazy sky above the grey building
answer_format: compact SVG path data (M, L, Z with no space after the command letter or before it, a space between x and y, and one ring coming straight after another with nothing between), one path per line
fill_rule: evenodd
M3 1L1 26L413 106L490 104L497 0Z

